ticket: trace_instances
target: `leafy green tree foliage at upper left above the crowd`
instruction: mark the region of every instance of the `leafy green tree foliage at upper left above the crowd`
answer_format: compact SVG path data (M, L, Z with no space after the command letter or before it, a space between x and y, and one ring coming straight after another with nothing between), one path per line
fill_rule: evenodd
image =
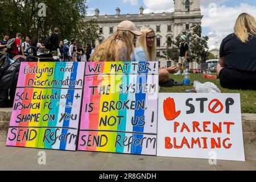
M38 15L41 9L39 3L46 5L46 16ZM82 43L88 39L95 41L99 38L98 24L96 20L85 22L86 9L86 0L1 1L0 32L9 33L12 37L21 32L45 39L53 28L59 27L60 39L78 38Z

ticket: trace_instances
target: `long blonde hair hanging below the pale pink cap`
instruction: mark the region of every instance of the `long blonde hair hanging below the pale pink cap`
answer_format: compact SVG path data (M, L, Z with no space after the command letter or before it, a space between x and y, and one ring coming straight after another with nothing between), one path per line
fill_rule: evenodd
M122 47L126 49L126 57L124 59L130 61L130 55L134 50L134 34L126 30L118 30L117 32L114 32L112 36L97 46L93 55L90 57L90 61L115 61L116 56L120 58L122 56L122 48L119 49L118 53L115 51L117 39L121 39L125 43L125 47Z

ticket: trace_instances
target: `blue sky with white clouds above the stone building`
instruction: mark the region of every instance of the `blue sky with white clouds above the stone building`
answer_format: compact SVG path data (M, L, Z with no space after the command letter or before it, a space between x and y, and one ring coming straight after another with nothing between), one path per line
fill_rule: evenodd
M138 14L139 6L144 13L174 12L172 0L87 0L88 15L100 10L100 15L115 14L115 8L121 14ZM209 36L209 49L219 48L222 39L233 32L234 23L241 13L249 13L256 18L255 0L201 0L203 35Z

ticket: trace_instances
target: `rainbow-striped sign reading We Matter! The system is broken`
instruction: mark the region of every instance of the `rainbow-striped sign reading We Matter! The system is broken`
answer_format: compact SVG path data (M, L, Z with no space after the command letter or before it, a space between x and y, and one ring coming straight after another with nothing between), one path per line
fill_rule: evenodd
M156 155L158 63L87 63L78 150Z

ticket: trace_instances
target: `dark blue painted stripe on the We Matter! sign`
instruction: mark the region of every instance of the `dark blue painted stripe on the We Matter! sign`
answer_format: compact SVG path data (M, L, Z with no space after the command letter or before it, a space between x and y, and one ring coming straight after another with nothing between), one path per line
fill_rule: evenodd
M146 64L146 62L140 62L140 63ZM143 73L148 73L148 71L145 71ZM147 84L147 76L146 75L138 75L137 85L138 84ZM138 89L138 86L137 86L137 89ZM146 101L146 93L142 93L142 90L141 90L141 92L135 94L135 98L136 98L136 105L138 104L138 101L140 101L142 103L142 101ZM136 123L137 119L138 119L138 124L133 127L134 132L142 132L142 133L144 132L144 126L141 126L141 127L138 126L138 125L142 124L142 122L139 121L139 118L141 118L141 117L144 117L144 110L139 108L138 110L135 110L135 113L134 113L134 123ZM144 119L144 118L142 118L142 119ZM142 140L143 135L142 134L133 134L133 137L134 137L134 140L136 140L136 139ZM142 146L141 145L135 146L135 144L133 143L131 145L131 154L141 154Z

